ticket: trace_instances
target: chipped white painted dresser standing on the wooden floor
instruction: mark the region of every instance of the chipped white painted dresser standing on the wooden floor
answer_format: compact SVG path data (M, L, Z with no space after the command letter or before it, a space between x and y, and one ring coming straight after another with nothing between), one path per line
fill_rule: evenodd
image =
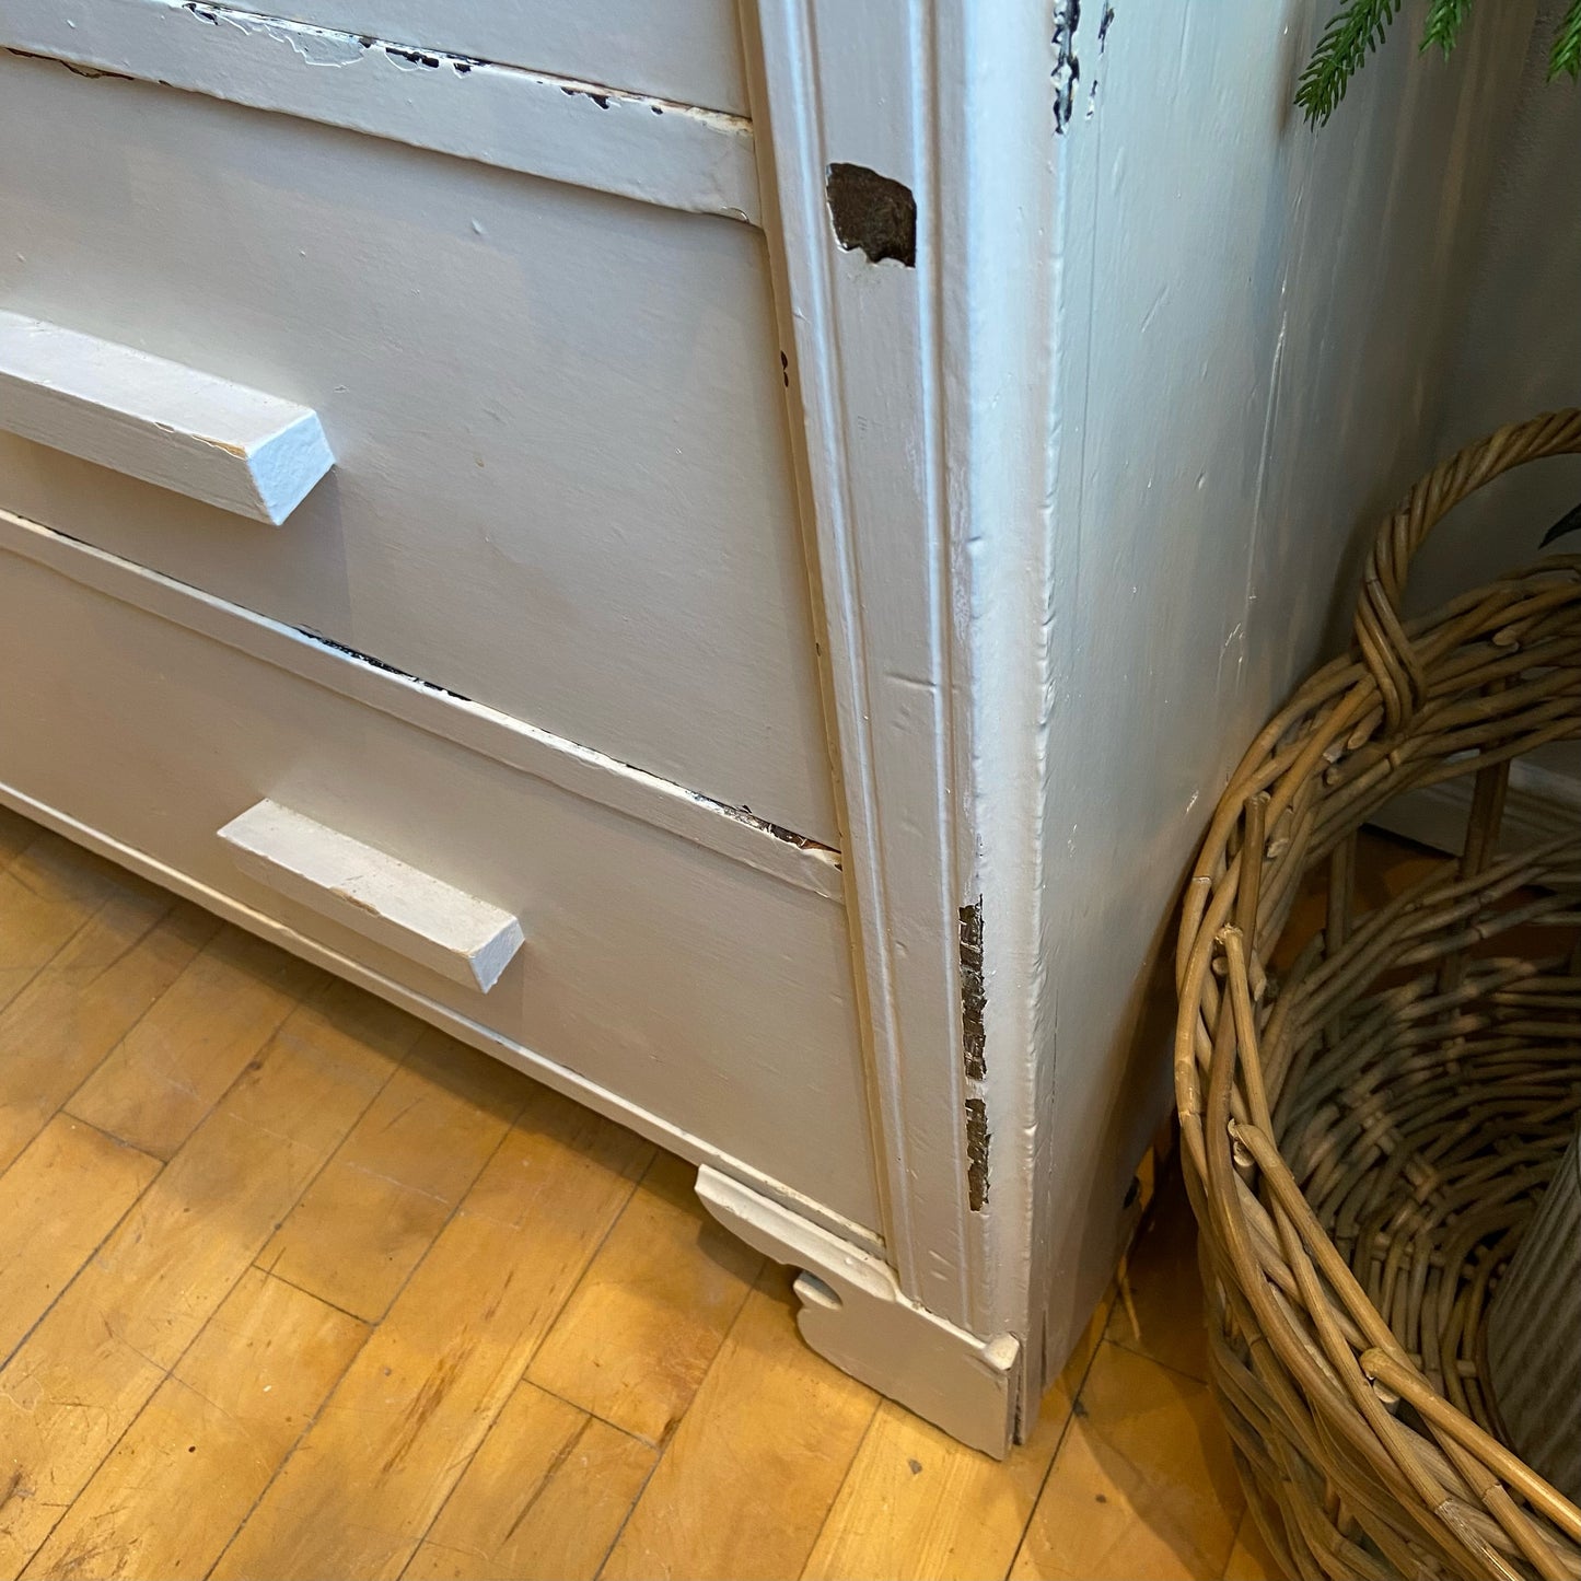
M1168 9L0 0L0 800L696 1160L994 1453L1192 809L1413 471L1281 357L1475 187Z

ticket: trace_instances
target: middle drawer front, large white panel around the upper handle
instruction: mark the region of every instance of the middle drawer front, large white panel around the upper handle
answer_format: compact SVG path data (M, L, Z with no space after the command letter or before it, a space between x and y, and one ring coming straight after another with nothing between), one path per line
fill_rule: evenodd
M6 436L0 506L836 843L759 231L8 55L0 204L0 308L335 457L270 526Z

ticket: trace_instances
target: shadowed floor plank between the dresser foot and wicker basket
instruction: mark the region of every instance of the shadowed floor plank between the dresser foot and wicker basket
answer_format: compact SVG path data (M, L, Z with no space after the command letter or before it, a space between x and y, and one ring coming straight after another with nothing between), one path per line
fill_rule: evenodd
M1208 1390L1105 1339L1010 1575L1217 1576L1241 1508L1230 1439Z

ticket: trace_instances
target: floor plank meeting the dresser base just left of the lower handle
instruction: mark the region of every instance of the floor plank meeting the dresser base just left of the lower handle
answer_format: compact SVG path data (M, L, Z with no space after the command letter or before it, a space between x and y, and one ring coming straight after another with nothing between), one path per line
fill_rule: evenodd
M66 1107L168 1159L297 1002L327 980L262 939L221 928Z

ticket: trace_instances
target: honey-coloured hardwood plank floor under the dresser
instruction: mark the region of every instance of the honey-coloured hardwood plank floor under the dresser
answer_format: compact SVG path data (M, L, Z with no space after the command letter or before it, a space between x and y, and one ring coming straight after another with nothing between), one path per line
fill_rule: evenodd
M994 1464L686 1165L0 813L3 1575L1271 1576L1190 1240Z

